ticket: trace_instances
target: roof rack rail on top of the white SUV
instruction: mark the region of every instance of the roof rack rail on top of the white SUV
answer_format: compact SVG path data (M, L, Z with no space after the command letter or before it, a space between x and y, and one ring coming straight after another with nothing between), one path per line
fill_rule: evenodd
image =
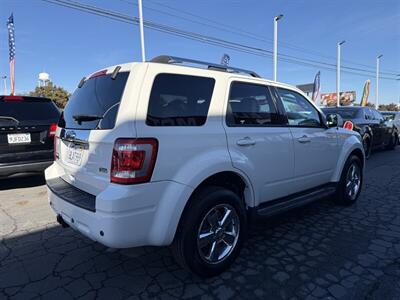
M202 65L202 66L207 66L207 68L209 70L223 71L223 72L229 72L229 73L244 73L244 74L248 74L252 77L260 78L260 76L256 72L253 72L250 70L239 69L239 68L234 68L234 67L230 67L230 66L208 63L205 61L176 57L176 56L160 55L160 56L154 57L150 62L162 63L162 64L188 63L188 64L195 64L195 65Z

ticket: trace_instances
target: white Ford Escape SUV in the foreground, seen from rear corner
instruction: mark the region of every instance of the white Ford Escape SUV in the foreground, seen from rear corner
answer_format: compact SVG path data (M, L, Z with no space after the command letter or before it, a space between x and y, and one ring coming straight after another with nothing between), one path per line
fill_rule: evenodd
M50 205L92 240L172 244L183 266L213 276L238 256L250 218L356 201L362 143L328 119L251 71L169 56L113 66L83 78L63 112Z

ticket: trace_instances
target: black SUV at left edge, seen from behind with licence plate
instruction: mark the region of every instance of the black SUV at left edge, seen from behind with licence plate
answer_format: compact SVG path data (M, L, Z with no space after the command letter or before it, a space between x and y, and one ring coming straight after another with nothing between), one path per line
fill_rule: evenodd
M59 117L50 99L0 96L0 177L43 172L52 164Z

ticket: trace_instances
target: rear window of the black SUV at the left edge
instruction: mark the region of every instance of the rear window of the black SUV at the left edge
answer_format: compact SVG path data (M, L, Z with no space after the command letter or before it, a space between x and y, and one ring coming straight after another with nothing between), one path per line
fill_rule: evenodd
M0 126L56 123L60 112L50 99L0 100Z

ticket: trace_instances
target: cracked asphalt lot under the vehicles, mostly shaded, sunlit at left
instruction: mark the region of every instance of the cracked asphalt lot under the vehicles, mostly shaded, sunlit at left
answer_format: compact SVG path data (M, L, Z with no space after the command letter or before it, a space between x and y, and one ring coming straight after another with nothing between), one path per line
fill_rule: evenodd
M41 177L3 180L0 299L400 299L400 149L367 164L355 206L325 200L255 225L208 280L168 248L108 249L62 229Z

